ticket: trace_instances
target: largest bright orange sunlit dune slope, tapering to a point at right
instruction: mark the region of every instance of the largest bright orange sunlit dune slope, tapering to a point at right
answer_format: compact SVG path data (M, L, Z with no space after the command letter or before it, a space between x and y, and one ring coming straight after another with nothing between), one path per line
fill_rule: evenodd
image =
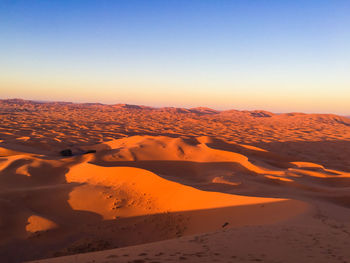
M114 213L114 216L129 217L159 212L191 211L285 201L276 198L204 192L167 181L146 170L132 167L100 167L93 164L81 164L73 167L66 178L67 182L111 187L118 192L125 193L121 201L115 202L113 202L115 199L112 197L109 198L112 199L112 202L108 202L108 196L106 196L106 203L109 204L108 207L105 207L105 212L101 212L102 206L98 202L96 206L92 204L94 200L90 199L91 203L87 202L90 196L94 195L94 188L84 184L76 187L70 193L68 202L73 209L93 211L106 219L114 218L111 217L113 208L119 210ZM84 196L86 197L84 198Z

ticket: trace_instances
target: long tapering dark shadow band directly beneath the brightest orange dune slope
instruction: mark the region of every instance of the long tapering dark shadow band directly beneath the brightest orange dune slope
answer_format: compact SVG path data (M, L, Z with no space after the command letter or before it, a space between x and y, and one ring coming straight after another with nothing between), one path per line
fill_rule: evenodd
M32 243L17 244L20 249L28 246L31 252L21 260L74 255L106 249L140 245L149 242L173 239L204 232L225 230L232 227L273 224L293 218L305 210L295 201L257 203L190 211L164 212L115 220L104 220L94 224L81 224L69 238L57 240L57 230L38 233ZM278 213L277 211L284 211ZM84 230L84 231L83 231ZM48 246L48 240L56 239L56 246ZM34 241L34 242L33 242ZM44 242L46 242L44 244ZM28 249L28 247L27 247ZM40 253L35 253L39 250ZM20 252L20 250L18 250ZM9 262L19 262L20 257Z

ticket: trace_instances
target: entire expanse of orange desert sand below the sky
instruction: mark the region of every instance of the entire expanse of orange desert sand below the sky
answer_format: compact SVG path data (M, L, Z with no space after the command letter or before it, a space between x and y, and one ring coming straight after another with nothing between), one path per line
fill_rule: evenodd
M350 262L348 118L0 111L1 262Z

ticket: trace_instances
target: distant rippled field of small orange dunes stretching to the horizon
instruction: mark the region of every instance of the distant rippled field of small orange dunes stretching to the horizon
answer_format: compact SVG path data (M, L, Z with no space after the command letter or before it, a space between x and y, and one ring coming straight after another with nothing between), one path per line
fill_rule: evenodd
M348 171L350 167L347 158L350 120L332 114L237 110L199 114L176 108L116 108L25 100L0 100L0 110L2 147L25 152L47 155L57 148L97 144L130 135L212 136L260 147L294 161L316 162ZM18 139L22 137L30 139Z

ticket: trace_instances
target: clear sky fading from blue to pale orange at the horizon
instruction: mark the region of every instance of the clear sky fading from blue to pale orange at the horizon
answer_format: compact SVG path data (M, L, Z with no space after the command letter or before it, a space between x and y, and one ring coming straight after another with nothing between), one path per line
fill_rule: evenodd
M0 98L350 115L350 1L0 0Z

